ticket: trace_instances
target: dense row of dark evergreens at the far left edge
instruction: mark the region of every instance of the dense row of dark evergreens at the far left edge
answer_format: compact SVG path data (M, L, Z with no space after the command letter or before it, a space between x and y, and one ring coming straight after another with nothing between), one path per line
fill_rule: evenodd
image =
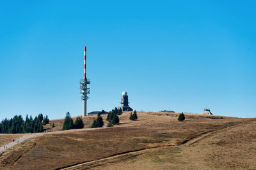
M46 116L48 119L48 116ZM6 134L17 134L17 133L37 133L37 132L43 132L43 125L42 121L44 120L43 114L39 114L34 119L32 116L28 118L28 115L26 115L26 119L23 120L22 116L15 115L10 120L5 118L0 123L0 133L6 133ZM48 122L49 123L49 119Z

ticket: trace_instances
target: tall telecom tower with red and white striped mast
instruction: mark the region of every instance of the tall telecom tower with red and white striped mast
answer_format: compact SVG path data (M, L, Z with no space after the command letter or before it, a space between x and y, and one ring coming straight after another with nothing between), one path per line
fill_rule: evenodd
M84 46L84 78L80 81L80 89L82 94L82 100L83 100L83 117L86 117L87 115L87 100L88 96L87 94L90 94L90 89L87 88L87 85L90 84L90 81L86 78L86 46Z

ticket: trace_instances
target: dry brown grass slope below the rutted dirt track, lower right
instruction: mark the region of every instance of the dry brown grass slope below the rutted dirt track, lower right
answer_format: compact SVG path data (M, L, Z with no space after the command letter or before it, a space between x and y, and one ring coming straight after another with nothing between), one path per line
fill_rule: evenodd
M148 150L94 169L255 169L256 122L210 132L193 145ZM90 167L90 166L87 166Z

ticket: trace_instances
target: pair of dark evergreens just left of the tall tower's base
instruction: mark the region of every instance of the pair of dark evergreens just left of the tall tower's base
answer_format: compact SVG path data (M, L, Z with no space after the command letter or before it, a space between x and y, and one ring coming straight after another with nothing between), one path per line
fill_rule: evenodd
M82 117L77 117L76 122L74 124L74 122L70 116L70 113L67 112L64 123L63 123L62 130L65 131L68 129L83 129L83 128L84 128L84 123L83 123Z

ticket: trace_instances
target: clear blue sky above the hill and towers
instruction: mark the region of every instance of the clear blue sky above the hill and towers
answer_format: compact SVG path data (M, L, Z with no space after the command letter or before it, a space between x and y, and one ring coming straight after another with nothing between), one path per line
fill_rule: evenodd
M120 106L256 115L255 1L2 1L0 120Z

